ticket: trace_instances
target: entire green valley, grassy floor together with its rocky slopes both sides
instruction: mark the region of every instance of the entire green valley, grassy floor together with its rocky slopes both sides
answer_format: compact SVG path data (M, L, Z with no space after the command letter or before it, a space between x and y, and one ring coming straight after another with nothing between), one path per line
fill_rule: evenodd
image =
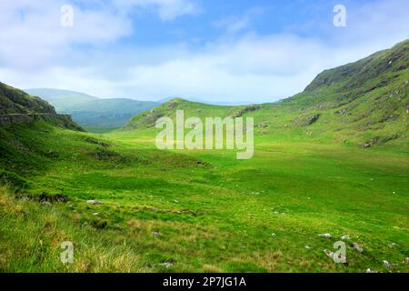
M408 82L406 40L277 103L175 98L105 134L0 125L0 271L408 272ZM6 85L0 102L55 114ZM254 117L254 157L158 150L155 122L176 110Z

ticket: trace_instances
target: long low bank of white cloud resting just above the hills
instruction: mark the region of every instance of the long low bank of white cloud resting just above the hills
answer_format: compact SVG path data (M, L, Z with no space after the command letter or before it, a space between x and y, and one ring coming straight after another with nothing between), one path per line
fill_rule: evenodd
M180 95L210 101L272 102L300 92L324 68L364 56L361 47L345 53L294 35L245 35L234 42L205 45L200 51L176 46L134 53L100 56L87 67L54 67L24 78L0 70L0 79L12 85L24 79L24 87L53 86L104 97ZM150 61L158 57L160 61ZM103 58L110 60L106 66L98 64ZM112 64L114 73L105 73Z

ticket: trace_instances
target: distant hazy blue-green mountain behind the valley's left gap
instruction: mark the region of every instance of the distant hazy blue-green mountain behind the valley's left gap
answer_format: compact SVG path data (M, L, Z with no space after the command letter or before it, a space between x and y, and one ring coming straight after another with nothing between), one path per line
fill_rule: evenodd
M101 99L67 90L28 89L25 91L41 96L55 105L60 113L73 115L75 122L92 131L123 126L133 115L159 105L156 102L125 98Z

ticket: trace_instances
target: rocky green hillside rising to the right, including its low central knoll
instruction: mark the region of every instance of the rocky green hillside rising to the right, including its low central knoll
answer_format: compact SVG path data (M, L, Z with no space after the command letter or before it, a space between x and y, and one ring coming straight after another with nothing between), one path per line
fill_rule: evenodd
M323 143L407 148L409 40L317 75L304 92L274 104L218 106L176 98L135 115L125 129L154 127L161 116L252 116L256 134Z

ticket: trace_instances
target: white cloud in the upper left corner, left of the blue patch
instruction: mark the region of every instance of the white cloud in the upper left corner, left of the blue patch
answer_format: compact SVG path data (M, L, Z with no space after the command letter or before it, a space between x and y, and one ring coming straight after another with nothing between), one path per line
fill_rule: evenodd
M109 10L74 7L74 26L61 25L63 1L2 0L0 64L16 69L64 62L73 45L101 45L133 32L130 20Z

